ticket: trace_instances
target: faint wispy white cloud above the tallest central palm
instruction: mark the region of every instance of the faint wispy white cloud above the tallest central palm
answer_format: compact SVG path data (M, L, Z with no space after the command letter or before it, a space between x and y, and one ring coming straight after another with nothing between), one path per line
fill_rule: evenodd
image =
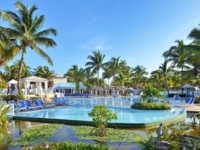
M102 37L89 40L86 44L81 45L81 48L94 51L112 49L110 46L107 45L107 40Z

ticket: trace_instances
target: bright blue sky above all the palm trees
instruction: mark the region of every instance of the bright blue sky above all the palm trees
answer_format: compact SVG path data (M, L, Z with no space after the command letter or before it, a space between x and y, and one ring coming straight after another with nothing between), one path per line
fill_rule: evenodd
M142 65L151 72L164 59L162 53L175 40L189 42L187 35L200 24L200 1L193 0L22 0L36 4L35 14L45 15L44 28L53 27L57 47L44 50L54 66L29 50L27 65L49 66L64 74L74 64L85 67L92 51L101 51L105 61L120 56L128 65ZM15 0L0 0L0 10L15 11ZM0 20L1 26L8 24ZM17 56L16 59L19 59ZM9 64L12 64L10 62Z

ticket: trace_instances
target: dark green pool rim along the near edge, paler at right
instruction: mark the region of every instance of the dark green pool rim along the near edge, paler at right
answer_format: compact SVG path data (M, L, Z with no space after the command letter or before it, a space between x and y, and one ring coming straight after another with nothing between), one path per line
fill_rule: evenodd
M163 125L170 125L176 122L180 122L186 118L186 113L179 116L173 117L167 120L161 120L151 123L109 123L108 127L118 128L151 128L158 126L160 123ZM79 120L66 120L66 119L52 119L52 118L33 118L33 117L23 117L23 116L13 116L13 120L21 121L32 121L32 122L46 122L46 123L63 123L67 125L91 125L94 126L92 121L79 121Z

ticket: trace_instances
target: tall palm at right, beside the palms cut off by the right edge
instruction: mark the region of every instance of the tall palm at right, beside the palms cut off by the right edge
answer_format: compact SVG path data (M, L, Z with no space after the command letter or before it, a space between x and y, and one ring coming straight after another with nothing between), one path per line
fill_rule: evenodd
M177 46L171 46L169 50L163 53L167 61L171 61L174 67L181 69L181 85L183 85L183 69L188 69L186 65L187 46L183 40L176 40Z

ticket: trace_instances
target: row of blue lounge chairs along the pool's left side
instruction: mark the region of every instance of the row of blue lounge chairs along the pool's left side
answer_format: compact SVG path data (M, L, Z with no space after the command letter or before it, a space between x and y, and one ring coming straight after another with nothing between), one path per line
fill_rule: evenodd
M4 101L2 104L6 105L7 103ZM14 111L26 111L26 110L35 110L35 109L42 109L42 108L50 108L54 107L56 105L66 105L68 104L68 100L64 97L54 98L53 103L44 103L42 100L33 100L33 104L30 102L30 100L18 100L16 105L14 100L8 101L8 104L14 105Z

